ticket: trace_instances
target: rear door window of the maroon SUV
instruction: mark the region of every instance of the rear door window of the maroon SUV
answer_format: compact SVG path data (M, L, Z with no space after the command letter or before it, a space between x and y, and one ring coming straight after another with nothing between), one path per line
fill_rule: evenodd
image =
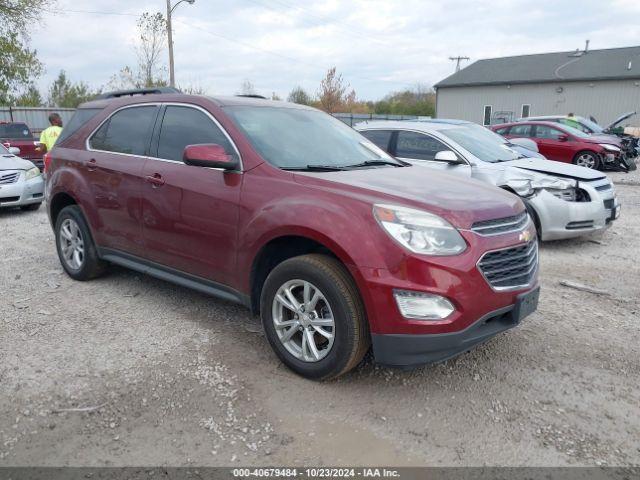
M145 155L156 106L131 107L114 113L89 140L91 148Z

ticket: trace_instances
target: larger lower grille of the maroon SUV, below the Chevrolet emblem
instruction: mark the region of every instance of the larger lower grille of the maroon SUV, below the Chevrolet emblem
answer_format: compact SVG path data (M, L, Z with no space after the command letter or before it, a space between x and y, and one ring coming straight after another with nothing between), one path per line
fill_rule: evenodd
M478 262L478 268L495 290L526 287L538 269L538 242L487 252Z

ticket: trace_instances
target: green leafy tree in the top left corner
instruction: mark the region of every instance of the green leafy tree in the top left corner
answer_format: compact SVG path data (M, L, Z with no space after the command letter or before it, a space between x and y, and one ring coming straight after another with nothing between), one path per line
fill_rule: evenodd
M29 48L29 28L40 21L51 0L0 0L0 104L12 103L43 72Z

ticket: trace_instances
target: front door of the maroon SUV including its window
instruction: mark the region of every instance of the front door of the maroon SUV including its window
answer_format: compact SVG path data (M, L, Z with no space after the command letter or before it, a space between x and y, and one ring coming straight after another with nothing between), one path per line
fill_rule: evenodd
M242 174L194 167L182 161L187 145L215 143L239 156L230 137L207 111L163 107L144 168L143 229L153 262L229 285L235 251Z

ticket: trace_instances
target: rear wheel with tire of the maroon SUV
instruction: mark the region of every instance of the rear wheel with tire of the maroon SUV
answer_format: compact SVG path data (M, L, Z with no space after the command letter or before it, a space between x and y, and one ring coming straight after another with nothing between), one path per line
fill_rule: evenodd
M62 209L55 234L60 263L71 278L89 280L104 272L106 263L98 258L89 227L77 205Z

